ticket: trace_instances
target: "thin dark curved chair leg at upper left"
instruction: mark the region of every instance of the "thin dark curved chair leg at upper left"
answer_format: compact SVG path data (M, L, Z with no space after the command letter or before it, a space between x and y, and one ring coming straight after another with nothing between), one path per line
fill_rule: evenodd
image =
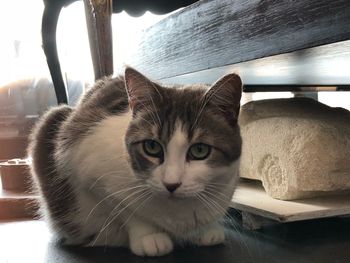
M47 1L42 18L41 35L43 41L43 49L56 92L57 103L67 104L67 90L62 77L62 71L60 62L58 60L56 46L57 21L62 7L63 4L61 1Z

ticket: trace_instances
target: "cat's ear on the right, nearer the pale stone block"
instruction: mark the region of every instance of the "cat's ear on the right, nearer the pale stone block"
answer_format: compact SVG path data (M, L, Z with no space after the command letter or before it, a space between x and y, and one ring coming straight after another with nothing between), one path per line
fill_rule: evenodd
M242 80L237 74L228 74L219 79L205 96L224 113L231 124L237 122L242 96Z

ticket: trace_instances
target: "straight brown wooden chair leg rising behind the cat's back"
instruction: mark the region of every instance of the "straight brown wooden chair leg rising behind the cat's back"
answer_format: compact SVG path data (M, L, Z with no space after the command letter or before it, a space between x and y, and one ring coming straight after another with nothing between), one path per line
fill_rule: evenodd
M84 0L95 80L113 74L112 0Z

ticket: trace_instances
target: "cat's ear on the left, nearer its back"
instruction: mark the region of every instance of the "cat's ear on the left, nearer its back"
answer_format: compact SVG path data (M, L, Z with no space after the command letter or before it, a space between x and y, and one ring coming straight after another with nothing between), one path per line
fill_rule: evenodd
M125 69L125 86L130 108L134 112L157 101L155 96L159 91L156 84L133 68Z

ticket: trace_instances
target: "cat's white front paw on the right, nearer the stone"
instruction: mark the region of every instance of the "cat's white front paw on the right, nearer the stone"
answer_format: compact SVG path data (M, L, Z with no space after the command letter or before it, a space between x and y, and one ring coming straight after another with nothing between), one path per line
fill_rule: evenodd
M219 223L205 226L192 240L198 246L214 246L225 241L225 230Z

